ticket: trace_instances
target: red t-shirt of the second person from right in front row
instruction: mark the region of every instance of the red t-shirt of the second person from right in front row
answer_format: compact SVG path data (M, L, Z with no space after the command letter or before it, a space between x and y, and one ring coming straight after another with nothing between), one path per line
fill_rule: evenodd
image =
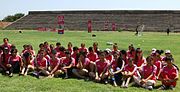
M157 67L155 65L150 67L148 65L144 65L142 67L141 74L144 77L144 79L146 79L153 73L153 76L150 79L156 80L156 71L157 71Z

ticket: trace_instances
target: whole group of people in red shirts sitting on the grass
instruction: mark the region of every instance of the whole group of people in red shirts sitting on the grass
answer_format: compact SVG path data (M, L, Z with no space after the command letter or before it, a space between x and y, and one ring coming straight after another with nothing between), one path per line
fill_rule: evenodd
M159 88L174 89L178 80L178 67L170 50L152 49L145 58L141 48L130 44L128 50L119 50L117 43L112 50L99 50L98 43L86 48L84 43L80 47L68 43L67 48L60 42L48 44L40 43L37 54L32 45L23 45L22 52L3 39L0 46L0 69L2 74L9 77L13 73L26 76L30 72L37 78L77 77L100 83L111 82L114 86L128 88L130 82L143 88L152 90L156 81L161 81Z

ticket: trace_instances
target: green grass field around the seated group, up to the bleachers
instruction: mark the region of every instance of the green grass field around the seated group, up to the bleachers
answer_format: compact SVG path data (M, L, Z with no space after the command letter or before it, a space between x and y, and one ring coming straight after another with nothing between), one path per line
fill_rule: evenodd
M91 37L92 34L96 34L96 37ZM166 33L144 32L143 36L134 36L133 32L65 32L64 35L59 35L54 32L38 32L24 30L23 33L19 33L17 30L0 30L0 39L8 37L10 43L15 44L19 52L23 49L24 44L32 44L34 49L38 50L38 45L44 41L49 44L55 44L61 42L61 44L67 47L68 42L72 42L73 46L80 46L80 43L85 43L86 47L92 46L93 42L99 43L100 49L112 48L112 46L106 45L106 42L118 43L119 49L127 50L128 45L133 43L134 46L141 47L144 51L144 56L150 54L152 48L157 49L170 49L175 63L180 66L180 34L171 33L170 36L166 36ZM3 41L0 41L2 43ZM177 87L174 91L180 90L180 81L178 81ZM160 85L158 82L157 85ZM77 92L106 92L106 91L127 91L127 92L143 92L147 91L142 88L129 87L128 89L122 89L120 87L113 87L112 85L98 84L94 82L85 82L84 80L77 79L36 79L31 76L19 77L15 75L12 78L0 75L0 91L1 92L24 92L24 91L77 91ZM153 90L157 91L157 90Z

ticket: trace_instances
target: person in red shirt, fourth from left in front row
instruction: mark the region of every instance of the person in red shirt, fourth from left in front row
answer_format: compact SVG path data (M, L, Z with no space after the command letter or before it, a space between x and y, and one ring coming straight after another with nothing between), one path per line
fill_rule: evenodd
M34 75L39 78L39 73L44 74L45 76L49 75L48 71L48 61L45 58L45 50L40 50L37 57L34 59L35 62L35 72Z

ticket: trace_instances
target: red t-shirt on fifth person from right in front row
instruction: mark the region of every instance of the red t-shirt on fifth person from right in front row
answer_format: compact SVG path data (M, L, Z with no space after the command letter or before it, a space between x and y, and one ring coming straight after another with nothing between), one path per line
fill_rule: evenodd
M107 71L107 67L109 66L109 62L107 60L105 60L104 62L97 60L95 63L98 74L101 74L104 69L106 69L105 71Z

